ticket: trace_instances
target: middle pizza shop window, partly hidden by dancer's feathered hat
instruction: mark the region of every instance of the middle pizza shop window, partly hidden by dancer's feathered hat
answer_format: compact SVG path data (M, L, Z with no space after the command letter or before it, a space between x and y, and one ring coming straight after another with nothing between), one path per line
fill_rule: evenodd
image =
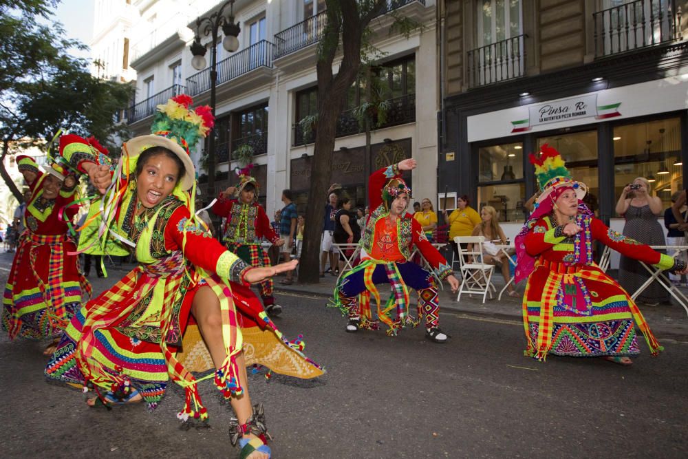
M588 185L585 202L596 215L599 211L597 131L576 132L537 139L537 148L548 144L559 151L575 180Z

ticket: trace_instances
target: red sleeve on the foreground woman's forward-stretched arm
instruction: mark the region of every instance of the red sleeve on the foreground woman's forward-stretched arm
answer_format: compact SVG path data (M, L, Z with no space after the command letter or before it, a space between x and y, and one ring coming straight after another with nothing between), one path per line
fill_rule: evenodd
M187 227L185 232L186 243L184 243L182 228L186 220L189 220L189 209L179 206L172 213L165 226L166 248L169 250L182 248L184 257L189 259L192 264L215 273L217 259L227 249L202 228Z

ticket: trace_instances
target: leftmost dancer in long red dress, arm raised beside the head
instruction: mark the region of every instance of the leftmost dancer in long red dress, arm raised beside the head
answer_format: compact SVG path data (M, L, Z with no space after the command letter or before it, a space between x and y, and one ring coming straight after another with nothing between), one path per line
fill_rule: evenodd
M19 156L19 171L33 191L23 219L26 229L12 261L3 295L2 323L10 339L52 338L45 355L54 352L63 330L91 286L80 275L74 239L68 222L78 206L74 201L76 178L58 164L42 173L28 156Z

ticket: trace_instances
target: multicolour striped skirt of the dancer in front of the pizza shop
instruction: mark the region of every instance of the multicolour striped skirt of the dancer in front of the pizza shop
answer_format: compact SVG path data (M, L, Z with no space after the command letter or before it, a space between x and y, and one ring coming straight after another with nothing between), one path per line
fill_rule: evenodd
M599 267L538 261L528 278L523 318L526 354L630 356L640 353L636 325L652 354L661 350L643 314Z

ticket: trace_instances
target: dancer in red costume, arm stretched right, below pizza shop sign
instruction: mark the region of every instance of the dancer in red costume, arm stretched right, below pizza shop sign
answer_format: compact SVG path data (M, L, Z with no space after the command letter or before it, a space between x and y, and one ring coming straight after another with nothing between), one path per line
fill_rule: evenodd
M542 190L535 211L516 237L516 281L528 277L523 299L526 355L603 356L630 365L639 354L635 327L652 355L663 348L643 314L592 259L594 240L656 268L685 273L685 263L611 230L583 203L587 187L571 178L548 145L530 155Z

